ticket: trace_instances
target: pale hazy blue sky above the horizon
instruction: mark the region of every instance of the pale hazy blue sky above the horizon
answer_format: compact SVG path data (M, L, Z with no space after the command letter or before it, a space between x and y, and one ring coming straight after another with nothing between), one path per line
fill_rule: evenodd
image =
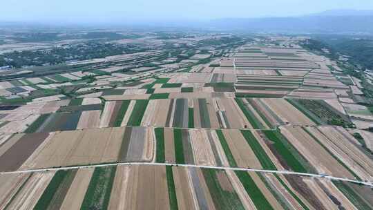
M373 10L373 0L2 0L0 21L207 20Z

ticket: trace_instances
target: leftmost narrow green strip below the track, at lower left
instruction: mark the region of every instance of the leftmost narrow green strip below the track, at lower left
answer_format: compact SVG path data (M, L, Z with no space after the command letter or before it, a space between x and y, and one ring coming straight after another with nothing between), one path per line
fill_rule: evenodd
M48 209L52 198L54 197L59 185L64 181L68 175L68 171L57 171L53 176L52 180L50 180L48 187L44 190L44 193L41 195L37 204L35 205L34 209Z

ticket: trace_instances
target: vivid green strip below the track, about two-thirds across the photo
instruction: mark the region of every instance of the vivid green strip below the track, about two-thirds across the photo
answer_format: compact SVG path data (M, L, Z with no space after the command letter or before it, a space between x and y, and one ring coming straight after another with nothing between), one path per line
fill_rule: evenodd
M269 204L268 200L265 198L265 195L260 191L258 186L256 186L254 180L251 178L247 171L234 171L243 187L245 188L247 194L249 194L251 200L254 202L256 209L274 209Z

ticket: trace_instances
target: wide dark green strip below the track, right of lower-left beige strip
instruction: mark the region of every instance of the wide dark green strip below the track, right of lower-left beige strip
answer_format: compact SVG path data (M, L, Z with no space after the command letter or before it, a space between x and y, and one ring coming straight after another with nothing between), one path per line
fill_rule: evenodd
M116 171L116 166L95 168L86 195L84 195L81 210L108 208Z

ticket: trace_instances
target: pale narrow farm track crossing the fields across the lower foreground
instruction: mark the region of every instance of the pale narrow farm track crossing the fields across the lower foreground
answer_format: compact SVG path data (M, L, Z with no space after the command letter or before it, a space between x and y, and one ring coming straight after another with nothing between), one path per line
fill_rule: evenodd
M285 174L285 175L301 175L301 176L308 176L308 177L313 177L313 178L325 178L329 180L352 182L355 184L362 184L367 187L373 187L373 183L371 182L350 180L347 178L338 178L338 177L334 177L331 175L323 175L323 174L299 173L299 172L294 172L294 171L274 171L274 170L263 170L263 169L232 168L232 167L220 167L220 166L202 166L202 165L193 165L193 164L156 163L156 162L118 162L118 163L111 163L111 164L66 166L66 167L59 167L59 168L30 169L30 170L23 170L23 171L0 172L0 175L15 174L15 173L43 172L43 171L61 171L61 170L68 170L68 169L85 169L85 168L95 168L95 167L104 167L104 166L121 166L121 165L182 166L182 167L193 167L193 168L200 168L200 169L220 169L220 170L231 170L231 171L253 171L253 172L260 172L260 173L280 173L280 174Z

